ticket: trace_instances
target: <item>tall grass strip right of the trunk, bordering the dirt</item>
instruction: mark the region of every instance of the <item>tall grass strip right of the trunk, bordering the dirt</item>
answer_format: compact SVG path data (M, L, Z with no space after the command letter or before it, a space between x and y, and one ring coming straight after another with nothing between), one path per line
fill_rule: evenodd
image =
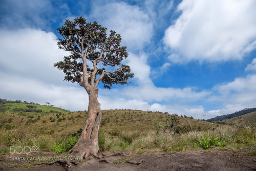
M111 136L104 132L99 134L100 149L141 149L157 148L168 152L186 151L189 149L209 149L211 147L236 147L255 143L255 129L240 127L222 127L208 131L191 131L182 135L169 133L147 132L121 132L119 135Z

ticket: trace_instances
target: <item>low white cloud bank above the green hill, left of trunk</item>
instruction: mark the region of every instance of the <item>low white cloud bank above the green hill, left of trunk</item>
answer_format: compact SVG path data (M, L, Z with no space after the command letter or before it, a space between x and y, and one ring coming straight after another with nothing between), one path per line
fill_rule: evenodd
M26 100L40 104L50 102L71 111L87 110L88 95L84 89L72 86L56 86L36 79L0 73L1 98Z

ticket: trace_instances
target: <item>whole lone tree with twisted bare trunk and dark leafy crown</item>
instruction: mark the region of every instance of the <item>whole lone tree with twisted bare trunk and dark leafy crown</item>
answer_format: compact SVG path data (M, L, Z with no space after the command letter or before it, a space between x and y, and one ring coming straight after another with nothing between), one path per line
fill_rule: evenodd
M99 151L98 130L101 121L100 103L98 102L98 84L103 83L105 89L112 84L127 84L134 76L129 66L121 65L128 57L126 47L121 47L121 35L97 22L87 23L83 17L66 20L65 25L58 28L62 39L57 45L60 49L71 52L64 56L63 61L54 64L66 74L67 81L77 82L86 89L89 96L88 116L76 145L71 149L70 156L81 159ZM105 68L104 68L105 67Z

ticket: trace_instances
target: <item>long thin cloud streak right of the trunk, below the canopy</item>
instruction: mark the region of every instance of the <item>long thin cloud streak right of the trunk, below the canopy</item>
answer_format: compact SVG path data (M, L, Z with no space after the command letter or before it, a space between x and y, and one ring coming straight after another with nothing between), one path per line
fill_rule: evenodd
M194 88L158 88L150 84L139 84L120 89L102 91L102 95L111 96L113 99L123 97L147 102L169 102L172 104L201 100L210 95L208 91L198 92Z

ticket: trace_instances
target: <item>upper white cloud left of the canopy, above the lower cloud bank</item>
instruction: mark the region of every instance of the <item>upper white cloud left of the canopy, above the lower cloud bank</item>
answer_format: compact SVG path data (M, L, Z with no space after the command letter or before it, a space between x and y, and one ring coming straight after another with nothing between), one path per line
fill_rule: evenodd
M0 71L50 83L63 79L53 65L69 53L58 49L53 33L35 29L0 30L0 36Z

